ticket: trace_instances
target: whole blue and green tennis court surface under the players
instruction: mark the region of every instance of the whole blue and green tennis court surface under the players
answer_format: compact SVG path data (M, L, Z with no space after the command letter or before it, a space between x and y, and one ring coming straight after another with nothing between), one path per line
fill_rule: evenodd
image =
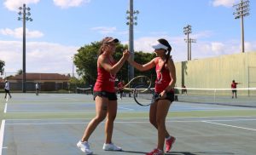
M181 96L182 97L182 96ZM241 100L242 102L243 100ZM251 106L175 101L166 128L177 138L172 155L256 154L256 100ZM90 137L95 154L145 154L156 146L156 129L148 122L148 106L130 97L119 100L113 142L123 152L105 152L104 123ZM3 155L83 154L76 143L95 115L91 95L13 94L1 97Z

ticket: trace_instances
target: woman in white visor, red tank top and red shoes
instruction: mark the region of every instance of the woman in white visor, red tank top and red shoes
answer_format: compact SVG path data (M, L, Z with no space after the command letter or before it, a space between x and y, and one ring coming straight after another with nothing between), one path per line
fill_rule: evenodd
M170 152L172 144L176 140L175 137L169 135L166 130L166 116L169 107L174 100L174 86L176 83L175 66L170 57L172 47L166 39L160 38L153 46L156 57L148 63L141 65L129 59L131 66L134 66L139 71L147 71L155 68L157 78L155 80L155 96L160 95L160 100L157 100L150 106L149 121L158 130L158 144L147 155L162 155L164 154L164 145L166 138L166 152Z

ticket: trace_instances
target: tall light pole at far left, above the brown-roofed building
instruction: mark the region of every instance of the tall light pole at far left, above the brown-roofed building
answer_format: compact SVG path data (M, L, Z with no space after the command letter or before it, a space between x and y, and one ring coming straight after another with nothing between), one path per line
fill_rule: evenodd
M23 79L22 79L22 92L26 93L26 20L32 21L32 18L28 17L30 16L30 8L26 8L26 4L23 4L23 8L20 7L20 12L18 13L20 17L18 17L18 20L23 20ZM22 12L23 10L23 12Z

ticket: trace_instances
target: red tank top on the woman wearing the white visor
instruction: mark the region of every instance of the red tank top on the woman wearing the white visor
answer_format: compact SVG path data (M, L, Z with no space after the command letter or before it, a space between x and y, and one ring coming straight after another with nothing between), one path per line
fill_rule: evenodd
M156 58L154 61L155 63L155 72L156 72L156 79L154 81L154 90L156 93L161 93L171 82L170 72L166 67L160 72L161 66L159 66L160 58ZM173 89L170 90L170 92L173 92Z

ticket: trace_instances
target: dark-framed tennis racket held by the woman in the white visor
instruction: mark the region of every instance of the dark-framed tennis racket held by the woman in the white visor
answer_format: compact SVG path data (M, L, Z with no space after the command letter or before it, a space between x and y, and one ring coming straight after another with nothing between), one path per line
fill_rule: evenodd
M147 85L138 85L133 90L133 98L139 106L149 106L160 99L160 95L154 93L154 89Z

